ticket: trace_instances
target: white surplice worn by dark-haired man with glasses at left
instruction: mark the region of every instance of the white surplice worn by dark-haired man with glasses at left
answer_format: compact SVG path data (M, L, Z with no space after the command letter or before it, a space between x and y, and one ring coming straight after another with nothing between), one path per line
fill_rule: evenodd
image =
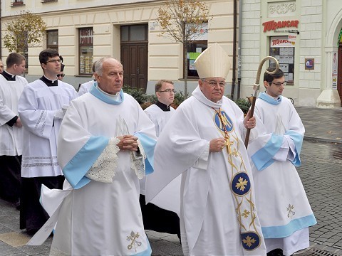
M62 119L56 119L54 115L76 97L73 86L61 80L58 80L58 86L47 86L42 80L26 85L18 106L24 125L22 177L62 175L56 148Z

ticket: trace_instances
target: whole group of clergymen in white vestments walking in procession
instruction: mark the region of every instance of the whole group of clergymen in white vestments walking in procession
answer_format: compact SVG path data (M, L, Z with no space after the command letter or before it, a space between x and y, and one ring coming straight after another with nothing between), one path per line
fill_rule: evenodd
M310 246L316 218L296 171L305 129L279 65L244 115L224 96L231 62L217 43L195 60L198 85L177 109L160 79L142 110L118 59L96 60L76 92L57 50L38 58L30 83L23 55L0 65L0 198L20 210L27 245L52 237L52 256L153 255L154 230L176 234L183 255Z

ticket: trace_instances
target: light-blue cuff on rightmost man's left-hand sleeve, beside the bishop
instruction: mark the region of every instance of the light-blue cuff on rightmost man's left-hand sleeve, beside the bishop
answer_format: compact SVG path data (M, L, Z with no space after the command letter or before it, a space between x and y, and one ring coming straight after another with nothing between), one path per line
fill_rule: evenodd
M271 139L269 139L265 146L251 156L258 171L262 171L274 163L272 157L279 151L282 143L283 137L281 135L272 134Z

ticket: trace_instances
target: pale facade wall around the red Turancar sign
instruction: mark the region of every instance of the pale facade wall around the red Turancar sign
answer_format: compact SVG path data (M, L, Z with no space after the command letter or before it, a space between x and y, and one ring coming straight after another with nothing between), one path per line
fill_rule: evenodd
M334 0L335 1L335 0ZM337 1L337 0L336 0ZM272 14L269 6L289 6L283 13ZM329 4L330 5L330 4ZM258 8L259 6L259 8ZM281 9L280 9L281 10ZM279 28L277 32L263 32L265 21L298 20L298 28ZM284 96L292 97L295 105L315 106L323 85L324 63L323 0L247 0L242 6L242 97L252 93L252 85L257 74L257 65L269 55L270 36L288 36L284 30L296 29L300 33L295 45L294 85L286 85ZM283 31L283 32L281 32ZM259 41L259 44L258 42ZM305 58L315 59L315 69L305 70ZM261 72L264 74L266 64ZM264 88L261 88L264 90Z

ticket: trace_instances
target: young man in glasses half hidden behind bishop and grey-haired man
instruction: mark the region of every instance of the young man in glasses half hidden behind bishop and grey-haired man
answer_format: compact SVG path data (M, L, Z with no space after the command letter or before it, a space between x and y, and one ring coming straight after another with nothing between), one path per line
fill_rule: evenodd
M159 137L162 129L175 113L170 106L175 100L175 87L171 80L159 80L155 84L157 102L145 109L145 113L155 124L155 132ZM153 186L153 184L150 184ZM162 233L177 234L180 238L180 218L177 213L165 210L153 203L145 204L145 178L140 181L140 206L145 230L154 230Z

